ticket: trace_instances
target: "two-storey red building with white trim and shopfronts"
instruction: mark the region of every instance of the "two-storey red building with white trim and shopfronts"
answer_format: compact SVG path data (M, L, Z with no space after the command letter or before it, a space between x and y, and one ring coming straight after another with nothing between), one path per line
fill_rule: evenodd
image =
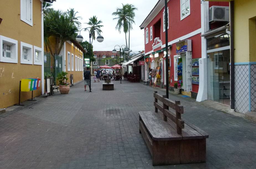
M168 15L168 54L169 54L169 88L174 83L182 89L182 93L196 98L199 89L199 58L202 54L201 26L202 5L200 1L169 0ZM165 10L164 0L159 0L140 25L144 29L145 40L145 78L150 68L159 65L160 71L157 84L166 87L165 79ZM213 25L214 26L214 25ZM215 26L218 27L218 24ZM192 70L193 78L192 78Z

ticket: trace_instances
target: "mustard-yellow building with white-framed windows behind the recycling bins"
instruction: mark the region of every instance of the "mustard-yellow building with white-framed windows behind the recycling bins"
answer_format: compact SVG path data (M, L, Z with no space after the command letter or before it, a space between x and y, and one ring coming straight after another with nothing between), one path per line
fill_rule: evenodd
M19 81L43 81L43 0L0 1L0 108L19 102ZM44 84L33 96L42 95ZM21 92L21 101L31 92Z

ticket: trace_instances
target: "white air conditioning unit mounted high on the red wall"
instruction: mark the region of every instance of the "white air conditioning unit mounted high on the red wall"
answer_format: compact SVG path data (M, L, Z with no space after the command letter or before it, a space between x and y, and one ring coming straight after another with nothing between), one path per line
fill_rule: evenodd
M209 22L213 21L229 22L229 7L211 6L209 9Z

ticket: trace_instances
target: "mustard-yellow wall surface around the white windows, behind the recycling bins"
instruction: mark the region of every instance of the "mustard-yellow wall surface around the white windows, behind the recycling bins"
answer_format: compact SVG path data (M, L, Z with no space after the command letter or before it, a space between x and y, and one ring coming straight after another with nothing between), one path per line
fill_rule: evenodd
M0 35L18 41L18 63L0 62L0 108L19 102L19 81L22 78L41 78L42 66L20 64L20 42L42 47L41 1L33 0L33 27L20 20L20 0L0 1ZM33 96L42 94L37 89ZM21 92L21 101L31 98L31 92Z

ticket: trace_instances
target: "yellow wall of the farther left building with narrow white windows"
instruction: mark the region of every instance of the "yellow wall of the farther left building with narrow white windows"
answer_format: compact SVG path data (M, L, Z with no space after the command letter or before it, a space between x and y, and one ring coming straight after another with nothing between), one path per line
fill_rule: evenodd
M75 71L76 70L75 58L77 56L81 58L83 61L83 54L78 49L76 49L73 45L69 44L68 42L65 42L65 43L66 43L66 72L68 72L68 78L69 78L68 82L70 82L70 74L73 74L73 82L76 83L78 81L83 80L83 68L82 68L82 71ZM70 52L70 58L72 57L72 54L74 54L74 71L68 71L68 52ZM70 70L71 70L71 66L70 66Z

